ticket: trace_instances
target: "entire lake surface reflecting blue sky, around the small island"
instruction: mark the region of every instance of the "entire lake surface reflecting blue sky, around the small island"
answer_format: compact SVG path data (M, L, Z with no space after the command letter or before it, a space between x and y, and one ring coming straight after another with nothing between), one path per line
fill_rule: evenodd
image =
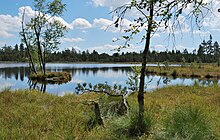
M151 66L154 64L151 64ZM11 89L41 89L46 86L46 92L62 96L66 93L75 93L77 83L105 83L109 85L121 84L126 85L128 76L133 74L131 66L134 64L47 64L48 71L68 71L72 75L72 80L65 84L33 84L28 80L28 64L0 64L0 90L5 88ZM168 78L161 76L147 76L146 83L147 91L156 88L164 87L166 85L192 85L198 81L197 79L185 78ZM202 84L209 84L213 81L203 80L199 81Z

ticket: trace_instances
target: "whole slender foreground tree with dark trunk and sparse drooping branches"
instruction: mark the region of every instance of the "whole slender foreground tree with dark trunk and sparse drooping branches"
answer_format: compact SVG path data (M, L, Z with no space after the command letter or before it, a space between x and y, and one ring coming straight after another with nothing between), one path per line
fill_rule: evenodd
M116 16L114 22L115 27L121 27L121 23L126 14L131 10L139 12L139 17L134 17L130 28L125 30L129 35L122 36L125 39L125 45L120 47L129 47L129 42L133 36L140 33L144 29L142 40L145 41L144 51L142 53L142 67L140 74L140 84L138 91L138 123L140 134L144 133L143 118L144 118L144 86L145 86L145 70L147 63L147 55L150 48L151 38L158 31L159 28L170 29L173 31L175 27L179 27L178 19L183 11L191 5L192 11L189 12L188 17L195 18L194 20L199 25L203 19L203 10L207 8L207 3L201 0L131 0L131 3L125 4L112 11L113 16Z

